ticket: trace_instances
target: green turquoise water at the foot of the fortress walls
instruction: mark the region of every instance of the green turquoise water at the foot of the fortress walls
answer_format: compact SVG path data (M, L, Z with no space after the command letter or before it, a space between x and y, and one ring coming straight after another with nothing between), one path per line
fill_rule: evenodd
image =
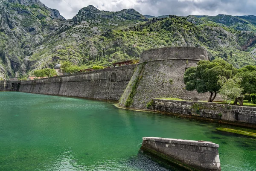
M118 109L113 103L0 92L0 171L175 171L139 152L143 136L220 145L222 171L255 171L256 139L231 126Z

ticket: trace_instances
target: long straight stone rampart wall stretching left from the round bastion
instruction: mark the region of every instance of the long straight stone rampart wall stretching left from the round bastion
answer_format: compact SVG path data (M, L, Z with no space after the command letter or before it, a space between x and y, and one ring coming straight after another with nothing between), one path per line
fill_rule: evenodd
M136 66L127 65L23 81L19 91L118 101L131 80Z

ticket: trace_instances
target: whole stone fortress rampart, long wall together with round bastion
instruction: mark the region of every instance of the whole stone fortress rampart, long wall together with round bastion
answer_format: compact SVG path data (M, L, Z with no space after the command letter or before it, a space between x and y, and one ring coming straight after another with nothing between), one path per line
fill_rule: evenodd
M198 61L208 60L197 47L150 49L140 63L103 70L80 72L33 81L23 81L20 92L119 101L121 107L146 109L151 99L173 97L207 100L208 94L185 90L183 75Z

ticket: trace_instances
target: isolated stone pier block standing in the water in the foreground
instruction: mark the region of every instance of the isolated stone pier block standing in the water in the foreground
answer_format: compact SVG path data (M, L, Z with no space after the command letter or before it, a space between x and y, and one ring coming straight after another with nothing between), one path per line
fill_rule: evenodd
M143 137L141 148L190 171L221 171L218 144Z

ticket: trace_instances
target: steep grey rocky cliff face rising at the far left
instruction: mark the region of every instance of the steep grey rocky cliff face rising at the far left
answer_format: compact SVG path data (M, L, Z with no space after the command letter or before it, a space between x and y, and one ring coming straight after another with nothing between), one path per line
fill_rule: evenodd
M0 8L0 77L24 75L30 68L26 56L65 19L39 0L3 0Z

